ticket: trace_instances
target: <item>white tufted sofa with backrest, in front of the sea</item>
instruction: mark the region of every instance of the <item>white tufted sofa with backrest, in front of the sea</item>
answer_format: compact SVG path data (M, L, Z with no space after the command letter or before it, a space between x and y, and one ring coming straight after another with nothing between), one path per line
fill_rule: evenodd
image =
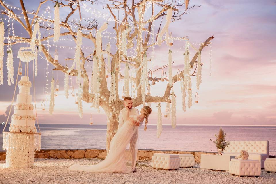
M230 141L230 144L223 150L223 155L238 156L241 150L246 150L248 159L258 160L261 168L264 168L264 160L269 158L268 141Z

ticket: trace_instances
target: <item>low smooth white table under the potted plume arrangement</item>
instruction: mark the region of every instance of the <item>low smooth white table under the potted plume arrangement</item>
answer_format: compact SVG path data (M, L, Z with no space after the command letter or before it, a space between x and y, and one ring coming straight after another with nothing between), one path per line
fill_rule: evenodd
M200 155L200 168L201 169L213 169L213 170L225 170L229 172L229 162L235 156L229 155Z

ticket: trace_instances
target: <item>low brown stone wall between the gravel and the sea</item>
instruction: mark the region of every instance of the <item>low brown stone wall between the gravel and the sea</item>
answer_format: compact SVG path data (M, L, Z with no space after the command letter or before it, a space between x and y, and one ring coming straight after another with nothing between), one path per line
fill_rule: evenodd
M137 160L151 160L154 153L169 153L169 154L193 154L196 162L200 162L200 154L216 154L216 152L198 152L198 151L168 151L168 150L138 150ZM70 149L70 150L48 150L42 149L36 151L35 158L98 158L106 157L105 149ZM276 156L270 156L275 158ZM6 152L0 152L0 161L6 160Z

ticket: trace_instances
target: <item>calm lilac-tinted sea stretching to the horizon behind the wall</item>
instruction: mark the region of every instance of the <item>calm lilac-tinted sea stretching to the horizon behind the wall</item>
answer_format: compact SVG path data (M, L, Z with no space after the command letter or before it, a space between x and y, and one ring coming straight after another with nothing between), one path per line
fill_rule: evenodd
M7 125L6 131L9 125ZM42 149L105 148L106 125L84 124L40 124ZM172 129L163 125L160 138L156 137L156 125L139 129L139 149L184 150L215 152L216 146L210 139L216 139L220 126L178 125ZM276 127L267 126L221 126L226 140L269 141L269 154L276 155ZM3 131L4 125L0 125ZM0 134L2 149L3 134Z

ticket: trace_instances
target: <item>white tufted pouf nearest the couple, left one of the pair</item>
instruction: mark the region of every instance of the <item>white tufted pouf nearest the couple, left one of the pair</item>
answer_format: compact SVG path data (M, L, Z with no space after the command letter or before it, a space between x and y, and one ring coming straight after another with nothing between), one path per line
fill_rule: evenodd
M178 169L180 158L177 154L155 153L152 156L152 168Z

